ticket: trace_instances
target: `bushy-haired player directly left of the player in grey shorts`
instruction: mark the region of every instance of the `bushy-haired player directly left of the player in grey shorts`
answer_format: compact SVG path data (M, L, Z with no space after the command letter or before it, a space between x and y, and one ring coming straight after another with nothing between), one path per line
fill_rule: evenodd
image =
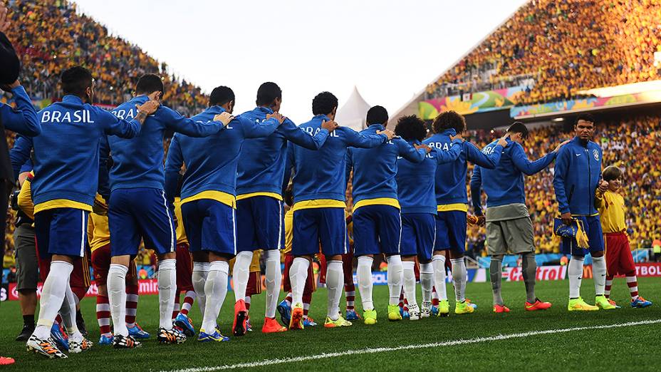
M454 111L441 113L432 123L434 135L422 141L425 145L441 151L448 151L452 143L451 136L461 134L466 130L466 121L462 115ZM469 142L462 144L462 153L454 162L439 165L436 169L434 189L436 192L436 242L434 242L434 284L438 291L439 314L447 316L449 305L445 291L445 256L443 251L449 250L452 262L452 280L454 281L454 297L457 300L454 314L472 313L474 307L466 301L467 272L464 263L466 249L466 228L468 197L466 175L468 162L481 167L493 169L500 161L503 148L507 145L504 138L496 144L493 153L486 155Z

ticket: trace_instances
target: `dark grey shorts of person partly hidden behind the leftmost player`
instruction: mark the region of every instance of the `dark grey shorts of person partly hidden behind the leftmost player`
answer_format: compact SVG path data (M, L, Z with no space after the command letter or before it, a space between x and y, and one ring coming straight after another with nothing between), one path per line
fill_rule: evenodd
M39 264L34 244L34 228L30 224L21 224L14 230L16 249L16 290L37 289Z

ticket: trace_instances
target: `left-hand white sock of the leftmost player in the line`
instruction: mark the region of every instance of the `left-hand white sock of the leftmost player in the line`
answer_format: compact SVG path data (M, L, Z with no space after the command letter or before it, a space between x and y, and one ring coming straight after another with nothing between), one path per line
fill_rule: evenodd
M72 264L64 261L51 262L51 271L48 272L41 289L39 319L33 332L39 339L48 339L51 336L51 326L62 307L71 272Z

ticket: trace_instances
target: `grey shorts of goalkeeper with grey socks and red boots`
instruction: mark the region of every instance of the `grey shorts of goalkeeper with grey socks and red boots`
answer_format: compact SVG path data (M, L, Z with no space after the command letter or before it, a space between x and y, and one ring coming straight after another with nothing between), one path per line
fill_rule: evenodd
M486 252L490 256L535 252L530 217L486 222Z

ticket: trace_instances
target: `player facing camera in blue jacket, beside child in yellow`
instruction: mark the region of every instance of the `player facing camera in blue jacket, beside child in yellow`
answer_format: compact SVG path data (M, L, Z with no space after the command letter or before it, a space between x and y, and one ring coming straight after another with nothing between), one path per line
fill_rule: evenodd
M601 185L601 147L592 141L595 120L590 114L578 115L574 125L576 136L564 145L556 157L553 190L563 224L582 224L588 236L589 249L578 247L576 238L562 239L563 254L571 254L567 268L569 277L569 311L615 309L605 297L606 260L603 257L603 234L599 213L595 206L595 192L605 192ZM592 256L595 280L595 306L581 297L581 276L585 254Z

